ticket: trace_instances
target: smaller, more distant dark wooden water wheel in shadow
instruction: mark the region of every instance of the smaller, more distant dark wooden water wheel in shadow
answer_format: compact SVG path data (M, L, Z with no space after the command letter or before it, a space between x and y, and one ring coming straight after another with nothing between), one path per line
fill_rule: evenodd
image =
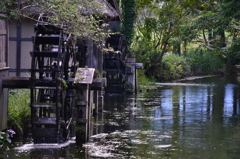
M103 69L106 72L106 93L122 93L126 82L127 44L122 34L115 34L106 41L109 50L104 54Z

